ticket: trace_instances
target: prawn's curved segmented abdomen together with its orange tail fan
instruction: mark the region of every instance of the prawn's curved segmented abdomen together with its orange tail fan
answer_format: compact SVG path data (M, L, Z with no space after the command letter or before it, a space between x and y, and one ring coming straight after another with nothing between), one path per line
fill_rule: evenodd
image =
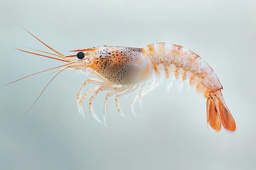
M143 47L146 56L153 63L157 76L159 66L164 66L167 79L171 71L183 81L189 80L190 86L196 85L196 93L204 93L207 98L207 123L219 131L221 124L229 132L236 130L236 123L227 108L221 90L222 85L213 69L196 53L183 46L169 43L153 43Z

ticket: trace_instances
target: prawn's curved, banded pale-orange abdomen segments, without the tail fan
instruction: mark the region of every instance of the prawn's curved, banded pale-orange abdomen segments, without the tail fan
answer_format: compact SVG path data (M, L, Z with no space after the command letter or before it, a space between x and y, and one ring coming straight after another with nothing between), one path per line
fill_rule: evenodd
M145 55L153 63L155 73L159 75L159 66L164 66L166 78L170 78L169 68L173 68L175 77L183 81L190 81L190 85L197 85L197 93L219 91L222 85L213 69L202 58L186 49L169 43L153 43L142 48Z

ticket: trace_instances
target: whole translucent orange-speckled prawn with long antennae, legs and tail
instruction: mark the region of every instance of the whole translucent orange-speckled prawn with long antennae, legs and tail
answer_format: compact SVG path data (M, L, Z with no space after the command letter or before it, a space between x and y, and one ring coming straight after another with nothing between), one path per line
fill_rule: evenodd
M23 27L22 29L27 31ZM97 121L102 123L94 113L92 102L99 92L111 91L106 94L103 106L103 118L104 124L106 125L105 115L107 111L108 97L115 96L117 110L122 116L124 116L119 106L119 97L140 89L139 94L137 94L132 100L131 108L134 113L134 105L137 99L141 99L144 94L155 88L162 79L170 80L169 86L171 86L173 79L176 78L177 80L189 81L190 86L195 86L197 94L204 93L204 97L207 98L207 124L214 131L219 131L222 125L228 132L234 132L236 130L234 118L222 97L221 90L223 88L217 75L199 55L183 46L169 44L166 42L153 43L142 48L99 46L88 49L73 50L72 52L77 52L76 55L66 56L45 44L34 34L29 31L27 32L54 53L33 49L42 53L47 53L47 55L43 55L22 49L17 50L67 63L44 70L49 71L60 69L60 71L48 82L45 88L47 88L49 83L52 82L59 73L71 68L77 71L87 72L97 78L86 79L76 95L77 107L79 113L82 114L83 117L85 117L85 114L82 109L82 104L89 95L92 95L89 99L90 114ZM40 71L38 73L42 73L44 71ZM34 73L32 75L38 73ZM94 84L96 87L82 95L86 84ZM45 91L45 88L37 97L36 101ZM34 106L34 104L29 108L29 110Z

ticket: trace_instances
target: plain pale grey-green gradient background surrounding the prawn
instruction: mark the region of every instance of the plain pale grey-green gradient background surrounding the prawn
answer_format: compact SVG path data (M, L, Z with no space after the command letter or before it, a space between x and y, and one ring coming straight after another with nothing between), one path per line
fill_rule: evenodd
M0 0L0 169L1 170L254 170L256 168L256 2ZM14 20L68 55L99 45L142 47L180 44L198 53L216 72L237 124L234 133L207 130L206 99L195 88L167 93L158 86L142 107L120 99L127 119L108 102L107 128L76 108L76 93L87 78L65 71L13 80L62 62L22 53L11 46L46 50ZM88 86L86 90L91 88ZM85 91L86 91L85 90ZM102 118L103 98L93 105Z

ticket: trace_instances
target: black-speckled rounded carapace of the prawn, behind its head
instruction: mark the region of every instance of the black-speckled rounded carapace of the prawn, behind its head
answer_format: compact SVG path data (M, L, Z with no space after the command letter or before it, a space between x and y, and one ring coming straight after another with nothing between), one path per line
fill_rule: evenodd
M93 69L114 84L136 85L153 74L141 48L106 46L96 53Z

